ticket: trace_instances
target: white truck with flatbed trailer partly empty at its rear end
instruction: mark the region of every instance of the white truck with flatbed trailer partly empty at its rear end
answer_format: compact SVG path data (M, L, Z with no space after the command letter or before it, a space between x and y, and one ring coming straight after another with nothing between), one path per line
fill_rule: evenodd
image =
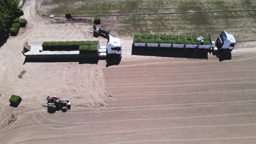
M49 41L42 45L24 44L22 53L26 59L53 59L53 58L96 58L108 59L116 57L121 59L121 39L109 35L106 46L100 46L96 41ZM118 60L117 60L118 61Z

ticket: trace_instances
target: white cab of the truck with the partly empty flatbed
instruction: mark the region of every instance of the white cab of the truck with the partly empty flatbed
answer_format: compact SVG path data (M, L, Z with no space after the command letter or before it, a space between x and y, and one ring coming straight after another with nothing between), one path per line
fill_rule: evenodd
M107 53L108 56L122 56L122 41L120 38L114 38L109 35L109 40L107 43Z

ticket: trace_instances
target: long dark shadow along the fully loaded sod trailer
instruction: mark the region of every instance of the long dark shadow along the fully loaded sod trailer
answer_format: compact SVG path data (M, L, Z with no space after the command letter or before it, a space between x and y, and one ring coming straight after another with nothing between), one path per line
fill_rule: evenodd
M149 49L148 50L132 49L132 55L208 59L208 52L185 51L183 49L181 49L181 50L164 50L164 51L153 51L153 50L149 50Z

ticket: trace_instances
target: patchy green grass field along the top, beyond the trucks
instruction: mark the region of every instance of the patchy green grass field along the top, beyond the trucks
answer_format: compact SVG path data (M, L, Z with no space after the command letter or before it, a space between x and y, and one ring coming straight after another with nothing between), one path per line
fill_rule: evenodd
M240 40L256 39L256 1L168 1L168 0L45 0L47 5L55 5L45 14L64 16L71 13L76 16L119 15L112 16L118 20L118 33L131 35L132 33L172 33L172 34L219 34L225 30L237 35ZM254 11L229 11L229 10ZM222 11L221 13L196 14L160 14L184 13L191 11ZM155 14L155 15L147 15ZM103 17L108 19L108 17Z

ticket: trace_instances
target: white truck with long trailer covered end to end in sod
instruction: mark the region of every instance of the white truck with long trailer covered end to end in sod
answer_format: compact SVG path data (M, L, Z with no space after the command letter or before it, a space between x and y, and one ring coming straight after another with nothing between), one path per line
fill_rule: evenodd
M225 31L220 33L216 42L211 35L133 34L132 55L136 55L138 51L154 53L172 50L212 52L216 56L230 55L235 44L234 35Z

